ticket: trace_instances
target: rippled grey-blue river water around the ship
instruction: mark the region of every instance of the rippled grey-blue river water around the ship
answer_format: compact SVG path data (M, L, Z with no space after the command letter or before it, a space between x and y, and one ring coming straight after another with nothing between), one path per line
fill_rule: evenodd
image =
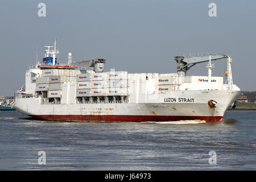
M229 110L216 123L72 123L0 111L0 170L255 170L255 118Z

